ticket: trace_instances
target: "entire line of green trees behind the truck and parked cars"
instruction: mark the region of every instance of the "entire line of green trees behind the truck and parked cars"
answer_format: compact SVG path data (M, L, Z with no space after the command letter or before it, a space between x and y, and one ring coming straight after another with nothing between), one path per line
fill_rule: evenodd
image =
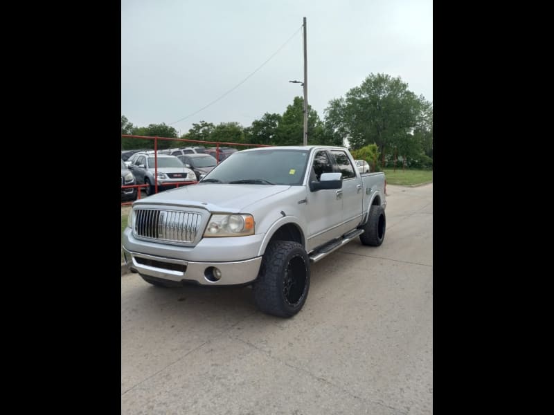
M188 140L240 142L263 145L302 145L304 100L296 96L283 114L264 113L249 127L238 122L213 124L204 120L193 123L188 133L181 136ZM352 151L364 149L359 154L381 162L393 156L422 160L432 166L433 157L433 104L422 95L415 95L400 77L383 73L368 75L361 85L355 86L343 97L330 100L325 117L308 106L308 145L347 145ZM140 136L177 138L173 127L150 124L136 127L127 117L121 116L121 133ZM176 142L159 142L159 148L167 148ZM182 145L182 142L177 142ZM375 147L370 146L375 145ZM368 147L370 146L370 147ZM123 138L122 148L152 148L153 143ZM369 150L370 149L370 150ZM365 157L364 157L365 158ZM373 160L367 160L373 163Z

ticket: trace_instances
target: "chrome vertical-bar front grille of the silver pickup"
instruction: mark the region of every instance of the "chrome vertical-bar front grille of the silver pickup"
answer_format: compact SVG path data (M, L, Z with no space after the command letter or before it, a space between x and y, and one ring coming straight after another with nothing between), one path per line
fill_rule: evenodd
M134 210L134 234L159 241L191 243L195 240L202 216L176 210Z

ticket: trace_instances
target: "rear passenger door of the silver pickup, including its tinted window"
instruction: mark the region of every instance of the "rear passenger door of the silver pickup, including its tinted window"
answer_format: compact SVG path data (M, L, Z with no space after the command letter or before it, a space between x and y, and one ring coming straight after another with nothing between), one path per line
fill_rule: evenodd
M334 158L335 172L342 174L342 216L341 234L346 233L359 224L361 221L362 203L364 194L361 184L361 176L357 168L350 162L346 150L331 150Z

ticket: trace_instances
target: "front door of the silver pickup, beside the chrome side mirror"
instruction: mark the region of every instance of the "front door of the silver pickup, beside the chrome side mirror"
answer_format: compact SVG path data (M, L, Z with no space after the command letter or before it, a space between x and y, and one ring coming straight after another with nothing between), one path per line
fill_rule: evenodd
M333 165L327 150L314 154L309 181L319 181L323 173L333 173ZM307 250L323 245L341 236L342 196L341 190L307 190ZM361 208L360 208L361 209Z

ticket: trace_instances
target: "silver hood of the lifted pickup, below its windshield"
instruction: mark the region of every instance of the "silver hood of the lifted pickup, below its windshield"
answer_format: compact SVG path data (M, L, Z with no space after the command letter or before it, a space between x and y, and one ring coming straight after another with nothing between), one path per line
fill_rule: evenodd
M238 213L248 205L269 196L285 192L287 185L228 185L222 183L199 183L178 187L136 201L139 205L192 206L210 212Z

